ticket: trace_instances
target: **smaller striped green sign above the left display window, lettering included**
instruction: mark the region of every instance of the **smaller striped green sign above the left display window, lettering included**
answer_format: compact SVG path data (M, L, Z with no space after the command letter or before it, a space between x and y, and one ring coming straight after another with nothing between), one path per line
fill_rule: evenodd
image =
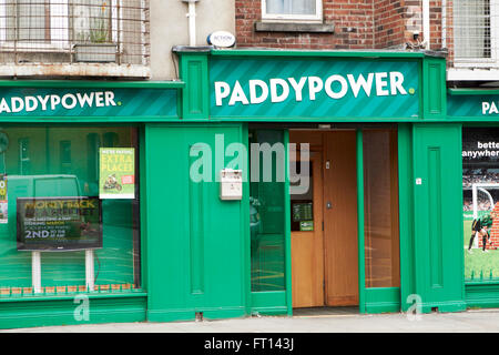
M176 90L0 89L0 120L26 118L164 118L176 115Z

